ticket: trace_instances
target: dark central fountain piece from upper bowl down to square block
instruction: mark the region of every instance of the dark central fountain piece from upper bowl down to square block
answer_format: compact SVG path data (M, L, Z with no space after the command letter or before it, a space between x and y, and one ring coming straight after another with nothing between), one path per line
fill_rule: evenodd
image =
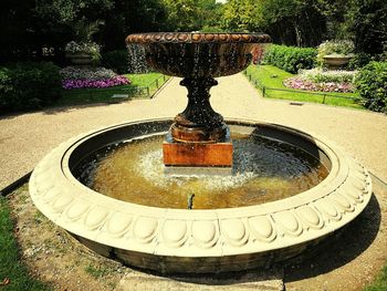
M244 70L254 46L270 42L257 33L138 33L128 45L143 45L148 66L180 76L188 90L188 105L175 117L163 145L169 174L231 174L232 143L223 117L210 105L209 91L217 76ZM199 169L200 168L200 169Z

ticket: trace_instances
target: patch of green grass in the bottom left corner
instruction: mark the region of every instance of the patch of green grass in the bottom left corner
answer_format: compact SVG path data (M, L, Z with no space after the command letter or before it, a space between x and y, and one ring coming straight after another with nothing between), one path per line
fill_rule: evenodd
M31 278L21 262L19 247L13 236L13 222L7 199L0 196L0 283L8 278L9 284L0 285L6 290L51 290L42 282Z

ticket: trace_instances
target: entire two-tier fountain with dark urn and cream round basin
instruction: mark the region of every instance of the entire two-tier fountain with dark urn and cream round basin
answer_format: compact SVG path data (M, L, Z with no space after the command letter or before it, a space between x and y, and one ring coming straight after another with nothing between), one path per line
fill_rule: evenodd
M144 46L149 66L184 77L188 105L174 121L76 136L39 163L35 206L82 243L163 273L239 271L314 248L366 207L370 177L339 147L283 125L224 122L211 108L213 77L243 70L268 35L126 41Z

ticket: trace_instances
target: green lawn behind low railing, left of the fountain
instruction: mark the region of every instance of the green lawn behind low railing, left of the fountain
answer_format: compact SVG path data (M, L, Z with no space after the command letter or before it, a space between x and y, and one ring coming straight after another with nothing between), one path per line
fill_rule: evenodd
M114 94L126 94L129 98L144 98L151 96L158 86L164 83L163 74L125 74L129 79L130 84L123 86L113 86L106 89L73 89L65 90L63 97L57 100L54 105L79 105L88 103L116 103L122 98L112 98ZM158 80L158 81L157 81ZM149 92L148 92L149 91Z

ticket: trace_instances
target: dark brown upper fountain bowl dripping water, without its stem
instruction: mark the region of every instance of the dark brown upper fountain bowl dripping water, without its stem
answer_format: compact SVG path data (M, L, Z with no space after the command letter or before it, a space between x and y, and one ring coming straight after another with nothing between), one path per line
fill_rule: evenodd
M149 66L167 75L217 77L232 75L251 62L253 46L271 39L262 33L138 33L126 43L145 49Z

